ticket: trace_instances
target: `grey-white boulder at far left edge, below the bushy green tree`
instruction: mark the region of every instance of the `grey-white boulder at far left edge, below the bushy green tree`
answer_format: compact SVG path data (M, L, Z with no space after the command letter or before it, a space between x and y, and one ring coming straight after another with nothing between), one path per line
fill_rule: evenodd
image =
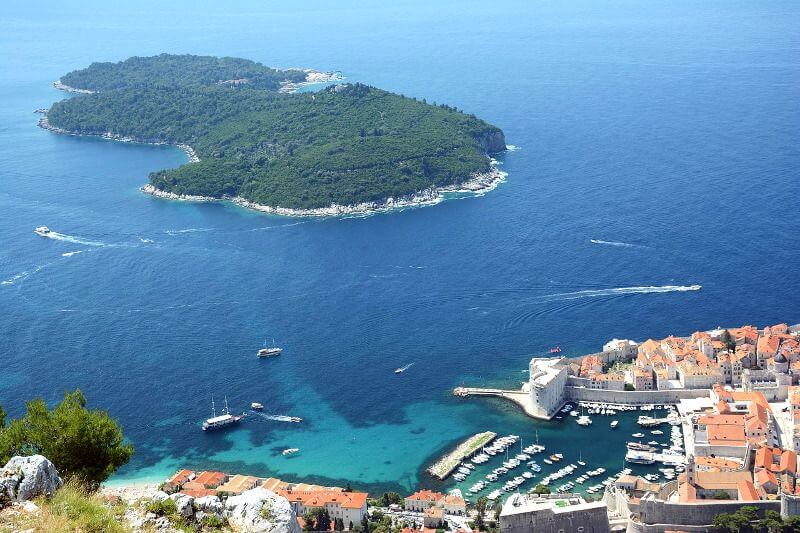
M0 502L51 496L61 485L56 467L46 457L12 457L0 471Z

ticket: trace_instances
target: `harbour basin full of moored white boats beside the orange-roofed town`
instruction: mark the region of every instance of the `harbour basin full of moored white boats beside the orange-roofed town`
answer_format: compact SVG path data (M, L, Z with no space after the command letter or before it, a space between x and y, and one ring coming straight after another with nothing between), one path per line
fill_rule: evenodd
M497 436L491 445L449 463L450 473L441 488L458 489L472 502L481 496L504 500L540 485L551 493L580 493L596 499L605 487L626 475L670 481L684 469L680 426L662 431L655 426L643 429L640 422L672 423L674 413L673 406L663 404L570 402L552 421L531 423L525 418L527 430L520 431L516 424L506 427L513 433L498 432L504 436ZM600 450L598 432L603 439Z

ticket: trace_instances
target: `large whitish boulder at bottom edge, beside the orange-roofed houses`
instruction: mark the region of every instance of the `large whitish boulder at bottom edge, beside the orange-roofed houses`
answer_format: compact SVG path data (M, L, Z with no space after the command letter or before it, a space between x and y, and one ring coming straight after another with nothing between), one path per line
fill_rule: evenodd
M260 487L228 498L225 516L231 526L241 531L300 533L289 501Z

